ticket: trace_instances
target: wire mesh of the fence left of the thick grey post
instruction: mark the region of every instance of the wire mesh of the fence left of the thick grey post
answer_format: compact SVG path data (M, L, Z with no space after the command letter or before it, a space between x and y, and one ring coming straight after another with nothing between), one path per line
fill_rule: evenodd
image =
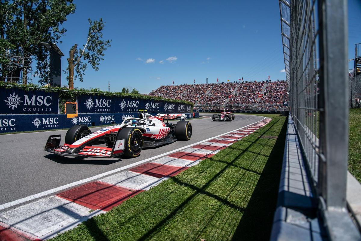
M290 110L310 167L310 174L317 184L319 159L317 4L316 1L303 0L279 2L283 47L289 48L284 51L284 62L290 86ZM287 21L290 22L287 24Z

